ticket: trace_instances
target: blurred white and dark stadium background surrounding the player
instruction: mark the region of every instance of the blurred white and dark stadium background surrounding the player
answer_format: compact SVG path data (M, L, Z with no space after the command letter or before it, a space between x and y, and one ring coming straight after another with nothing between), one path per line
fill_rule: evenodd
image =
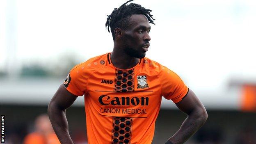
M0 1L5 143L25 143L38 131L38 119L73 66L112 52L106 18L124 2ZM180 75L208 111L206 124L186 144L256 144L256 1L134 2L156 19L146 57ZM186 118L172 101L163 98L161 106L153 144L163 144ZM86 144L83 97L66 115L75 144Z

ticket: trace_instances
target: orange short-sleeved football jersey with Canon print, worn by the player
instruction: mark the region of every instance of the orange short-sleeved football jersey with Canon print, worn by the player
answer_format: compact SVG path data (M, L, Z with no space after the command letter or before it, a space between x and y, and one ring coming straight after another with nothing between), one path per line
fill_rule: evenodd
M68 91L85 96L89 144L151 144L162 96L181 101L188 87L165 66L148 58L118 69L111 53L75 66L64 81Z

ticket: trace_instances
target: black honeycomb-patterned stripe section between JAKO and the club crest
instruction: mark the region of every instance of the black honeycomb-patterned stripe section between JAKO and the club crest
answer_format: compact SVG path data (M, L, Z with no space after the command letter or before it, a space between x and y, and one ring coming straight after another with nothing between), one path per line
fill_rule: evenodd
M114 83L115 92L134 91L134 69L127 71L116 69Z

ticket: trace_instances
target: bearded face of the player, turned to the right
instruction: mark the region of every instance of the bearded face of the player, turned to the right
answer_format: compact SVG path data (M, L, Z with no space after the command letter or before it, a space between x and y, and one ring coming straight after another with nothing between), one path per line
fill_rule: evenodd
M143 14L130 16L128 27L124 30L123 43L126 54L143 58L149 48L149 21Z

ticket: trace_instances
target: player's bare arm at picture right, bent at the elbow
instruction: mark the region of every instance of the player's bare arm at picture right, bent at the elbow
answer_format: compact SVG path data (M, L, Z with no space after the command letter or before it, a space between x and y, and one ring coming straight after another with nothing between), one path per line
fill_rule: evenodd
M191 89L187 96L176 105L187 114L187 118L180 129L165 144L183 144L203 126L208 118L205 107Z

